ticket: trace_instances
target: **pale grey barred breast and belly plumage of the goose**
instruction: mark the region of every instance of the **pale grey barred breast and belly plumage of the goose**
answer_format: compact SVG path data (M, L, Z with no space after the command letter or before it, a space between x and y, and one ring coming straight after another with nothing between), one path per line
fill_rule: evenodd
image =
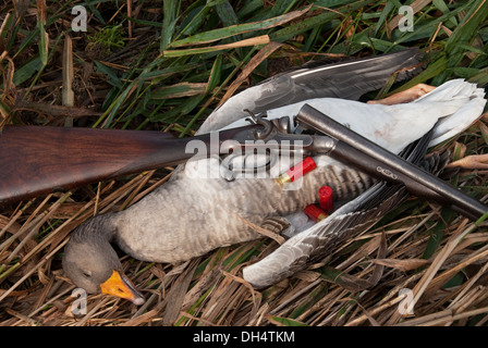
M343 201L374 184L369 176L342 165L315 170L298 190L283 190L270 177L227 182L186 175L178 173L152 195L115 214L117 241L125 252L146 261L184 261L260 237L245 221L261 225L269 217L301 211L316 200L316 188L326 181Z

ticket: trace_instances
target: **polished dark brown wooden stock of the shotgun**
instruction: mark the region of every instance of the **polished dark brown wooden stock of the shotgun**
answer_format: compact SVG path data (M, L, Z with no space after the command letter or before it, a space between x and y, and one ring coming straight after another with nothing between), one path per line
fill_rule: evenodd
M219 141L240 130L219 132ZM185 152L195 139L209 148L209 134L178 139L152 130L5 126L0 136L0 203L183 163L195 156Z

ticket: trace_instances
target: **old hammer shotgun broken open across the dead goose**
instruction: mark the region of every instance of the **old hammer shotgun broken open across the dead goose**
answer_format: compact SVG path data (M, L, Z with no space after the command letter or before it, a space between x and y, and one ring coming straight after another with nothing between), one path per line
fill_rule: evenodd
M296 121L314 129L314 135L290 134L288 117L268 121L252 116L249 121L253 124L248 126L188 138L152 130L5 126L0 136L0 159L4 163L0 167L0 203L211 154L266 148L300 151L302 156L327 153L378 179L401 183L417 197L451 206L472 220L488 211L476 199L307 104ZM205 151L188 151L191 141Z

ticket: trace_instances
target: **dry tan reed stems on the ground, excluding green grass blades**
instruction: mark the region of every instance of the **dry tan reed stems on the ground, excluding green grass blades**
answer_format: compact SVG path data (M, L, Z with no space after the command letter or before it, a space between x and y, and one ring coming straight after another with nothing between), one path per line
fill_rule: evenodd
M415 12L422 11L430 2L415 1ZM16 2L13 3L15 5ZM127 0L123 7L126 7L127 14L137 16L138 10L132 8L132 1ZM123 7L117 13L122 12ZM9 18L15 17L20 24L28 23L29 18L24 16L25 11L26 9L9 10L0 25L0 34L9 30ZM313 15L308 9L305 12ZM117 13L111 21L115 20ZM341 20L344 15L341 14ZM388 27L395 26L398 20L399 17L393 17ZM61 23L56 23L58 24ZM130 24L130 36L135 41L139 35L137 30L144 25L136 25L135 22ZM437 38L441 38L442 32L447 30L442 23L436 25L429 45L437 45ZM223 80L219 86L224 87L217 87L217 91L203 101L204 109L215 108L218 101L223 102L234 95L256 67L272 54L301 60L312 55L334 55L321 52L289 53L285 52L288 44L270 41L270 36L259 35L212 47L229 50L247 45L261 46L256 49L256 54L249 55L249 60L237 62L237 78L232 76ZM52 38L51 35L48 50L52 49ZM76 42L73 40L73 45ZM172 53L181 53L176 51L175 49ZM74 50L72 53L77 61L83 61L80 51ZM230 51L224 54L228 53L232 54ZM22 67L19 58L12 59L10 52L3 51L0 52L0 62L4 66L1 102L12 107L12 114L34 111L36 114L57 117L64 117L66 114L74 117L101 115L99 109L47 104L49 98L52 98L52 88L60 85L61 78L39 79L28 87L32 94L29 97L37 98L21 101L15 94L24 92L27 88L13 84L15 72ZM131 65L123 60L100 59L99 62L101 66L113 69L118 73L131 70ZM76 69L81 69L76 63L72 67L75 73ZM49 69L59 71L56 64ZM101 104L102 101L97 100L97 92L100 91L89 91L86 84L89 80L82 82L91 103ZM131 82L121 79L123 84ZM199 87L195 89L200 92L202 87L207 84L193 87ZM229 88L225 87L228 85ZM136 90L136 85L127 90L126 101L134 98ZM105 97L107 90L102 89L101 94ZM192 97L195 96L198 97ZM1 125L11 116L5 110L8 111L0 108ZM171 121L171 126L178 122ZM488 114L484 114L472 129L454 139L457 148L450 142L443 149L449 148L462 157L464 153L483 153L488 136L486 122ZM466 190L473 188L486 192L487 174L486 171L463 172L456 176L456 185L465 186L463 189ZM415 208L407 208L399 217L345 240L337 250L306 271L260 291L254 290L242 279L242 269L277 248L277 244L270 238L220 248L179 265L147 263L123 257L123 268L146 295L146 303L136 308L121 299L102 295L88 296L87 313L74 315L72 304L75 298L71 296L74 286L63 276L60 264L62 248L70 233L96 213L119 211L137 202L167 182L171 174L162 177L158 175L155 172L143 173L129 181L102 183L95 191L88 188L89 195L84 195L81 189L40 197L2 210L0 325L281 325L280 319L288 318L317 326L465 325L475 316L479 319L474 321L476 325L486 325L488 321L487 225L481 224L473 229L473 225L464 219L453 217L446 222L448 227L439 232L436 228L444 219L443 211L439 207L424 204L418 199L411 200ZM427 250L430 250L428 256ZM378 264L383 268L382 273L375 273ZM339 276L331 277L328 272L332 271ZM373 274L377 278L368 283L367 279ZM367 288L364 287L366 283L369 284ZM416 302L414 316L402 316L399 313L399 306L406 299L399 295L402 289L413 290Z

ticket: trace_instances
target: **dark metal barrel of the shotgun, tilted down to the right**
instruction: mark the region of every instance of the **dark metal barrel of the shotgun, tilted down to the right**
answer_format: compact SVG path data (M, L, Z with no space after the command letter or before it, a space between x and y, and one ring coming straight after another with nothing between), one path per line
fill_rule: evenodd
M478 200L467 196L437 176L405 161L399 156L381 148L308 104L305 104L302 108L296 119L300 123L333 137L339 140L339 142L342 141L355 150L346 154L344 147L342 147L342 151L339 151L340 148L338 147L338 151L332 150L330 152L331 157L334 156L334 151L337 153L340 152L342 158L349 157L349 162L355 164L357 162L356 159L362 154L364 161L359 162L363 162L364 165L361 165L362 163L359 163L359 165L369 174L375 175L379 179L402 183L414 195L422 195L425 192L425 196L427 196L425 198L427 199L435 199L440 203L449 202L454 210L472 220L481 217L488 211L488 207ZM361 153L358 153L358 151ZM378 169L378 163L381 163L381 170Z

